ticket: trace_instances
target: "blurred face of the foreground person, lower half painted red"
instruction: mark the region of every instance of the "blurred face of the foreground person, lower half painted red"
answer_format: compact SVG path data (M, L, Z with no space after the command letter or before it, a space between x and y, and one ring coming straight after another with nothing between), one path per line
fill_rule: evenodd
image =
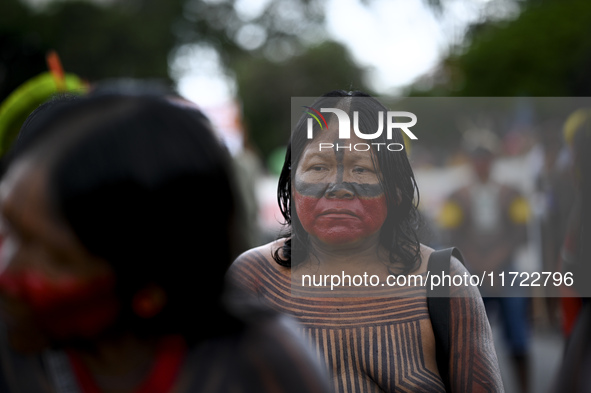
M0 183L0 312L17 349L95 336L119 312L111 267L55 216L46 188L30 160Z

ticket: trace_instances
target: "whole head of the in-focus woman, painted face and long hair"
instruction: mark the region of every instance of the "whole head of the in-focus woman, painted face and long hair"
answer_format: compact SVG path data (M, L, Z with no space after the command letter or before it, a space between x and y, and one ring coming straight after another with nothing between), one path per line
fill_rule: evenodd
M359 129L365 134L374 133L380 128L379 112L382 116L388 112L377 99L365 93L342 90L325 94L312 104L312 108L317 111L321 108L338 108L345 111L352 121L354 112L358 112ZM336 115L325 112L328 129L321 130L319 125L314 124L313 139L310 140L307 139L308 117L304 114L292 132L279 179L278 200L288 232L284 236L287 238L286 244L275 254L275 260L285 266L296 266L307 255L300 253L296 256L292 252L294 248L308 250L311 241L315 239L353 244L359 239L353 239L351 236L359 232L361 240L364 236L375 236L379 244L389 252L392 264L397 263L397 266L400 266L402 262L403 270L412 270L420 253L416 234L418 188L406 152L403 149L390 151L386 148L390 144L404 146L400 129L393 130L392 139L387 139L387 133L382 132L374 139L361 140L351 132L350 140L340 141L336 139L339 123ZM382 126L384 124L385 122ZM328 150L324 155L326 162L334 165L326 171L334 171L334 176L331 179L326 177L317 181L310 180L312 178L308 179L306 173L315 170L314 157L320 157L320 154L313 151L318 150L320 142L345 145L357 142L373 144L368 150L364 147L358 151ZM379 150L377 144L381 146ZM343 167L348 178L343 175ZM317 179L319 174L322 175L321 171L322 169L316 170L312 177ZM310 182L314 184L310 185ZM345 228L340 231L346 235L342 238L337 238L335 228L327 229L328 235L324 238L319 235L319 231L314 231L311 228L313 217L308 217L314 213L311 207L307 207L306 201L322 200L324 197L357 198L361 209L359 216L363 221L359 224L361 227L357 228L359 230Z

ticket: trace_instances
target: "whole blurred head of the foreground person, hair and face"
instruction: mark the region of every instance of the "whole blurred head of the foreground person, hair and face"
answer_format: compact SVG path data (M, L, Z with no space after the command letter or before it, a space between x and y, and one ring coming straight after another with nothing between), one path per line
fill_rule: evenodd
M237 251L234 189L206 122L163 98L109 92L29 132L42 136L0 183L0 305L13 344L194 342L233 328L220 298Z

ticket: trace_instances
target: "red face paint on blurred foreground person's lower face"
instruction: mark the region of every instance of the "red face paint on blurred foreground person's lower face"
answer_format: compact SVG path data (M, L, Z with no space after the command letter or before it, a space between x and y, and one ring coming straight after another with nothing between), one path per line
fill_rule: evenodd
M111 325L119 312L115 279L62 277L36 270L0 275L0 292L25 303L39 328L53 339L88 338Z

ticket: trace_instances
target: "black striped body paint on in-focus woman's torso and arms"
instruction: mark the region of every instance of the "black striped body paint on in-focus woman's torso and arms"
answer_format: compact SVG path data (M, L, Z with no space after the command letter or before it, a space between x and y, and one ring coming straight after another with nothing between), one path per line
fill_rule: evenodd
M271 258L274 247L243 254L230 268L230 285L241 297L255 297L299 322L302 336L325 363L334 392L445 392L424 288L406 288L400 297L318 297L310 288L308 296L306 288L304 296L293 296L291 269ZM453 296L452 391L502 392L482 300Z

